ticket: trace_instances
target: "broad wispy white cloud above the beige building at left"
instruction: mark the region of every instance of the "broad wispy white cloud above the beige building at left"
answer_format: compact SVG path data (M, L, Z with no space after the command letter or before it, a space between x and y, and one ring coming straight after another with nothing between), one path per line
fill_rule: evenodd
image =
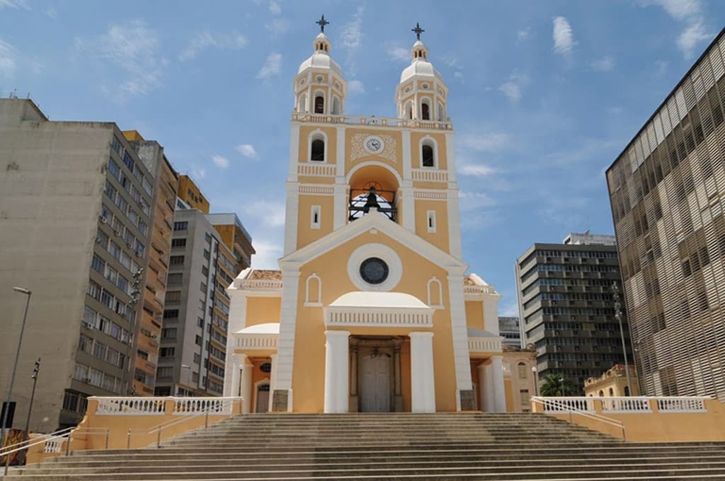
M75 38L75 48L117 64L128 75L120 90L129 95L144 95L161 85L163 64L157 58L159 37L143 20L111 25L103 35L90 41Z

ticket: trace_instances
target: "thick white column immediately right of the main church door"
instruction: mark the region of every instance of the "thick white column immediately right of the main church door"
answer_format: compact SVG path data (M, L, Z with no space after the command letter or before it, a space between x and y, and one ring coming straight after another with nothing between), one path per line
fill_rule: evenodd
M410 391L413 412L436 412L433 332L410 332Z

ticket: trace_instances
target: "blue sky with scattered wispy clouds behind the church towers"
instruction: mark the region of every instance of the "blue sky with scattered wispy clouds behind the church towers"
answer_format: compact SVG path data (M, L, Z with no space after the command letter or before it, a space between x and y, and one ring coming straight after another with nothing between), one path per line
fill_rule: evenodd
M158 141L277 268L292 80L320 14L345 113L394 117L420 22L449 88L463 257L518 315L535 242L613 234L605 170L725 25L725 1L0 0L0 96Z

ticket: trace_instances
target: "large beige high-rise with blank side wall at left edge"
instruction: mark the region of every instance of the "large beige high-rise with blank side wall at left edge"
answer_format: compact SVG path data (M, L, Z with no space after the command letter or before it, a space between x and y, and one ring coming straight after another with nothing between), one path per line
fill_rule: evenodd
M77 424L87 396L134 390L144 325L134 291L146 286L158 171L114 123L51 122L29 99L0 100L0 164L0 391L25 307L12 287L22 286L32 294L14 426L41 357L30 429L51 431ZM136 386L148 393L153 377Z

